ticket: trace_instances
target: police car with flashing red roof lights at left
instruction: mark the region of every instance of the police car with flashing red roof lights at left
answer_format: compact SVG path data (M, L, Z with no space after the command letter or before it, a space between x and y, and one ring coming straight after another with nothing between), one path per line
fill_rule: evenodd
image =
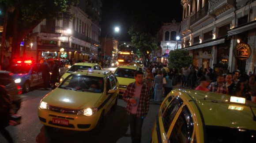
M29 92L31 87L44 83L40 64L31 60L17 61L16 64L11 65L10 71L13 73L18 90L22 90L23 93Z

